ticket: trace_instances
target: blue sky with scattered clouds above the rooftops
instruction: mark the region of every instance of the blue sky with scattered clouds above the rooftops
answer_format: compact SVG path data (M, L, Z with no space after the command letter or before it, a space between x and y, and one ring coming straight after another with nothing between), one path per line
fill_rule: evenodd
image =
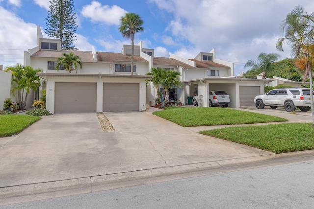
M45 38L49 0L0 0L0 65L23 64L24 50L36 46L36 28ZM216 58L234 62L235 75L250 70L248 60L261 52L291 57L280 24L296 6L314 12L314 0L74 0L79 50L121 52L131 40L119 33L120 18L133 12L144 21L134 44L155 49L155 56L195 58L216 49Z

